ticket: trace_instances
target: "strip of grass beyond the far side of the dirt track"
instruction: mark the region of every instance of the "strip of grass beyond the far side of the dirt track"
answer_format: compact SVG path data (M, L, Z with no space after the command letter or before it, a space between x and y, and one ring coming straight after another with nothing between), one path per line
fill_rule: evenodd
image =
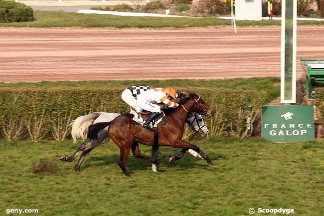
M63 11L34 11L36 21L0 23L0 26L13 27L116 27L116 28L161 28L161 27L206 27L230 25L230 20L214 17L176 18L176 17L134 17L105 14L83 14ZM237 21L238 26L280 25L280 20ZM298 24L322 25L324 21L298 21Z

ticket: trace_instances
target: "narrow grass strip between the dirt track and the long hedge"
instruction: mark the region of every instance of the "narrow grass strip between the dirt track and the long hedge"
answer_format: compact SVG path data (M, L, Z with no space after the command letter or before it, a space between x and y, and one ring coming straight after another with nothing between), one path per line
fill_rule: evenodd
M0 82L0 88L105 88L105 87L124 87L131 85L148 85L152 87L178 87L178 88L231 88L231 89L247 89L267 92L267 101L271 101L280 95L280 78L278 77L262 77L262 78L235 78L235 79L216 79L216 80L192 80L192 79L170 79L170 80L108 80L108 81L60 81L60 82L19 82L19 83L3 83ZM253 84L253 85L252 85Z

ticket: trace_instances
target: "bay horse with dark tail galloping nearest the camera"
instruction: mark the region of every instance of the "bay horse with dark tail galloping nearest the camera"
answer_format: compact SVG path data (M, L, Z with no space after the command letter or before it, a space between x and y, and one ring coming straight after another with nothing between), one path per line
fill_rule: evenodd
M210 158L200 150L199 147L181 140L183 136L184 123L188 118L189 113L192 112L210 117L214 115L214 111L208 104L206 104L198 95L190 93L189 97L186 97L179 102L177 108L165 111L165 124L157 127L159 134L158 146L171 146L172 148L181 148L183 150L192 149L206 160L208 165L212 166L213 163ZM110 122L91 125L88 131L88 139L95 140L98 138L98 133L109 126L109 136L120 148L120 159L118 165L126 176L130 176L126 167L126 161L131 149L133 156L149 161L155 165L161 164L157 158L148 157L140 152L139 143L153 146L155 136L152 130L146 129L135 123L133 117L133 114L121 114Z

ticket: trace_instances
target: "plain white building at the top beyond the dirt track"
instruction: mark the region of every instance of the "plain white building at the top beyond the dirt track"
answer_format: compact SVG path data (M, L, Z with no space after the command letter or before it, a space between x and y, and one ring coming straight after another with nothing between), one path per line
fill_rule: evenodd
M261 20L262 0L235 0L236 20Z

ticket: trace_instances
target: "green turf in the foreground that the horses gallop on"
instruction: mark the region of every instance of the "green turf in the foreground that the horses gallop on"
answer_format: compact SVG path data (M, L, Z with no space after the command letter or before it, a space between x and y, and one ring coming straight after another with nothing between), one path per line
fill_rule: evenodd
M295 216L323 216L323 141L211 138L197 145L214 167L189 155L168 163L164 156L179 150L165 147L160 149L166 164L161 173L130 155L132 177L127 178L116 163L119 149L113 143L97 147L76 173L76 161L58 160L78 148L71 141L0 141L0 213L38 209L39 216L248 216L249 208L283 208L294 209ZM150 155L150 147L140 148ZM55 174L31 172L32 162L42 158L57 162Z

